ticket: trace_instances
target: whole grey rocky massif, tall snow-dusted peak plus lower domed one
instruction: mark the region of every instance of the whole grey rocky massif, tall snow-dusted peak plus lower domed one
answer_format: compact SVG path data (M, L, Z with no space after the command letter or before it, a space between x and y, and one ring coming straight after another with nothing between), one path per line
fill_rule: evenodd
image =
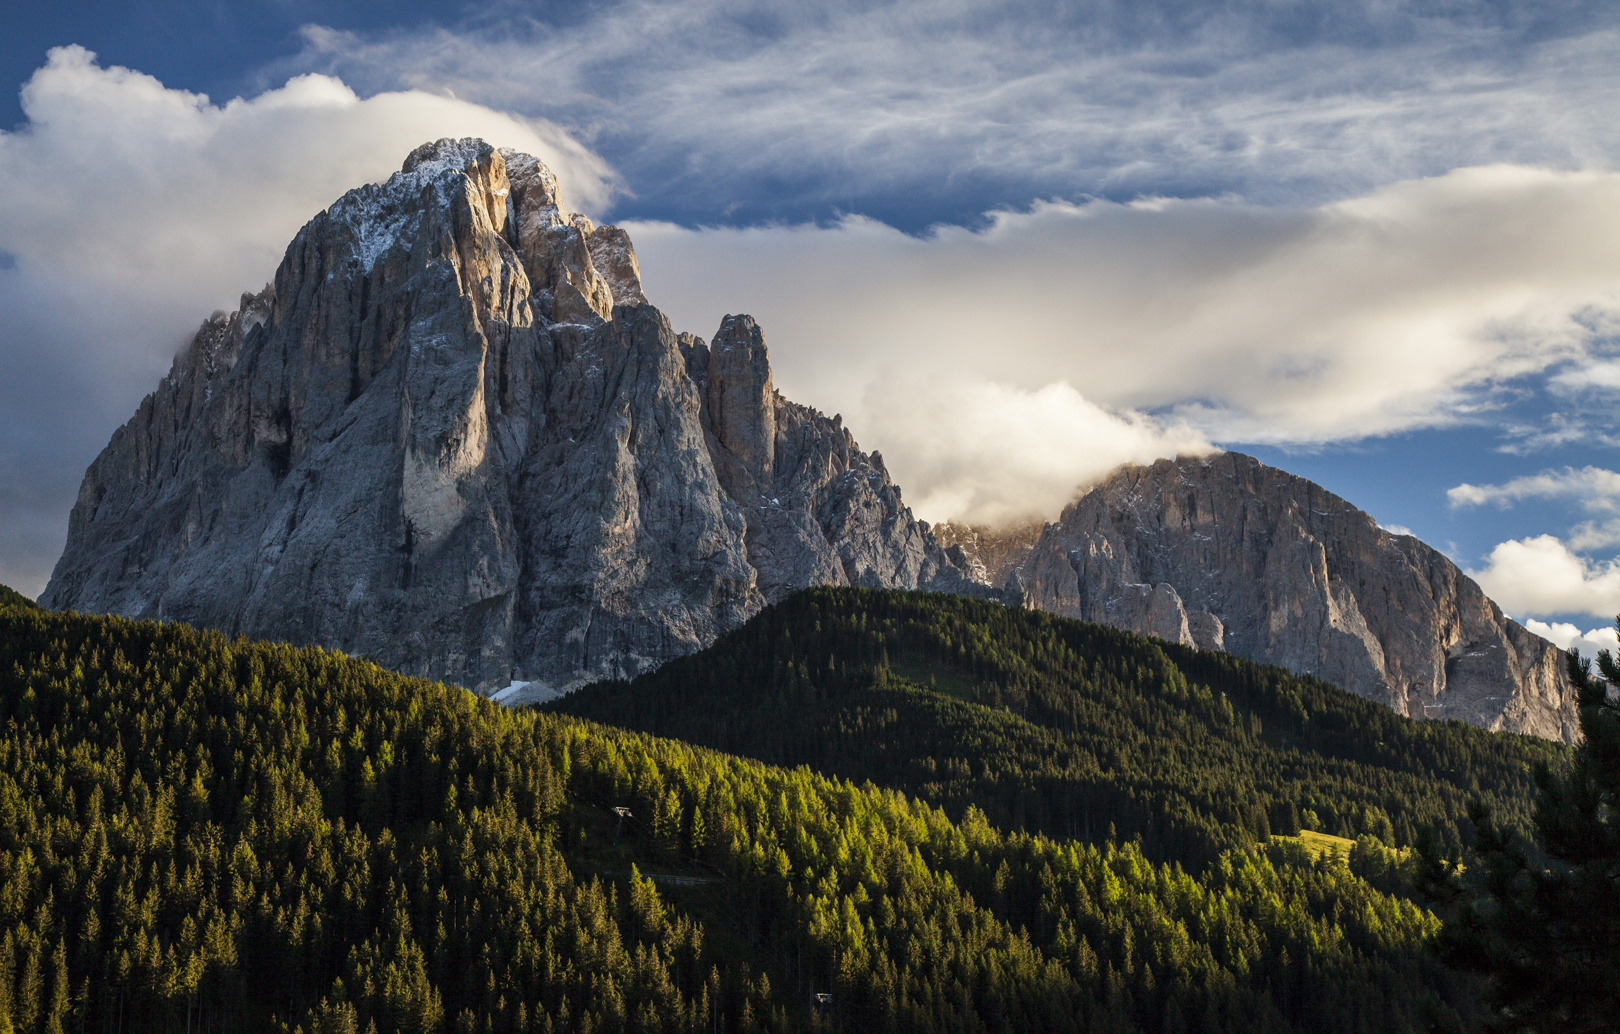
M930 528L761 329L677 334L536 159L418 147L300 230L84 475L40 601L319 643L512 703L630 677L810 585L925 588L1573 739L1558 652L1455 564L1238 454L1048 525Z

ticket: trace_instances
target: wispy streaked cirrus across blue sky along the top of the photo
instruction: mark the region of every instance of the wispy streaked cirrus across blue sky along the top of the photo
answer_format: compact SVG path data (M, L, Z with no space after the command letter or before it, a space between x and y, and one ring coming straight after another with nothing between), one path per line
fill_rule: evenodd
M624 0L305 39L280 73L557 118L635 185L624 214L679 222L1317 204L1620 154L1620 18L1597 3Z

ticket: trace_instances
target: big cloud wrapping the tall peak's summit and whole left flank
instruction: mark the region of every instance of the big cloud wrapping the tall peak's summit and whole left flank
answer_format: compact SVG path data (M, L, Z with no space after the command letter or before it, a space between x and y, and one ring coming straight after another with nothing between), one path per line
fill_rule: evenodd
M212 104L79 47L0 131L0 579L44 588L79 475L196 326L274 274L293 233L420 143L539 154L599 209L606 164L562 130L426 92L356 97L300 76Z

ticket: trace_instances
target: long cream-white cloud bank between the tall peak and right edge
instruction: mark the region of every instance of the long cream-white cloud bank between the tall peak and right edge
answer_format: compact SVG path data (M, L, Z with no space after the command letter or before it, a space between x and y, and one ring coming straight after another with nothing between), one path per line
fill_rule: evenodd
M752 313L782 391L842 412L930 519L993 519L982 485L1050 515L1207 441L1482 420L1588 361L1586 314L1620 301L1605 172L1464 169L1317 207L1045 203L922 237L625 225L654 303L700 334Z

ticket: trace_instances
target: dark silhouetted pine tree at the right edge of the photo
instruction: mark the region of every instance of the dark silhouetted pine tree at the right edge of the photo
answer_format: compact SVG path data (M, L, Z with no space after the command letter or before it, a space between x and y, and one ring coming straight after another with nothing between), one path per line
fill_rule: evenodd
M1486 898L1458 909L1442 945L1490 976L1495 1028L1599 1034L1620 1018L1620 663L1570 655L1584 742L1565 775L1541 767L1536 848L1477 809Z

